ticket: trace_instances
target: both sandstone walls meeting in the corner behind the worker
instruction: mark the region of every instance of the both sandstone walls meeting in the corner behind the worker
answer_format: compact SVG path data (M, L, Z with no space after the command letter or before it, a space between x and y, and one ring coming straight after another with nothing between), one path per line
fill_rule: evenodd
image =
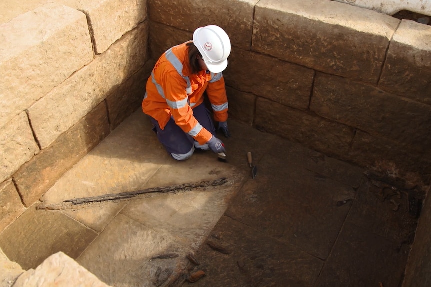
M330 0L57 0L0 25L0 231L207 24L231 38L231 118L427 188L431 26Z

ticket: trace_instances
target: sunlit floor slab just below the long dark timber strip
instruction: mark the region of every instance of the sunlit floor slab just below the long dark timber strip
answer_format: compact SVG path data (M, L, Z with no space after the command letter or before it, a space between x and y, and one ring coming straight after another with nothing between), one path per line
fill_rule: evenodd
M130 201L121 213L196 251L241 184L232 178L222 186L154 194Z

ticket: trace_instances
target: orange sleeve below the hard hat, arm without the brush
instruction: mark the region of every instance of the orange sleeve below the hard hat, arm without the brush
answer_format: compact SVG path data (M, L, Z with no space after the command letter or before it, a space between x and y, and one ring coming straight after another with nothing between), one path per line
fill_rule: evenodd
M206 94L211 102L211 107L214 112L214 120L218 122L226 121L228 117L228 103L222 73L215 74L211 78L206 87Z

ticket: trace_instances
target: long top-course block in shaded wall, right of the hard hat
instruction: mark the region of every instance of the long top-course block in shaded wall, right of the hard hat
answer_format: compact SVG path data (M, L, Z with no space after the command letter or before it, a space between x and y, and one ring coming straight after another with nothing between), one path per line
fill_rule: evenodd
M388 15L333 1L261 0L252 50L376 84L398 23Z

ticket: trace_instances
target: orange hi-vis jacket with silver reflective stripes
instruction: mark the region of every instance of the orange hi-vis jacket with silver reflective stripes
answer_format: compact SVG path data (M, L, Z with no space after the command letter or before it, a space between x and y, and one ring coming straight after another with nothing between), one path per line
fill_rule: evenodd
M186 46L189 42L170 48L158 59L146 83L142 110L156 119L161 129L172 117L184 132L205 144L212 134L196 120L192 109L203 103L206 90L214 120L226 121L226 88L222 73L191 72Z

